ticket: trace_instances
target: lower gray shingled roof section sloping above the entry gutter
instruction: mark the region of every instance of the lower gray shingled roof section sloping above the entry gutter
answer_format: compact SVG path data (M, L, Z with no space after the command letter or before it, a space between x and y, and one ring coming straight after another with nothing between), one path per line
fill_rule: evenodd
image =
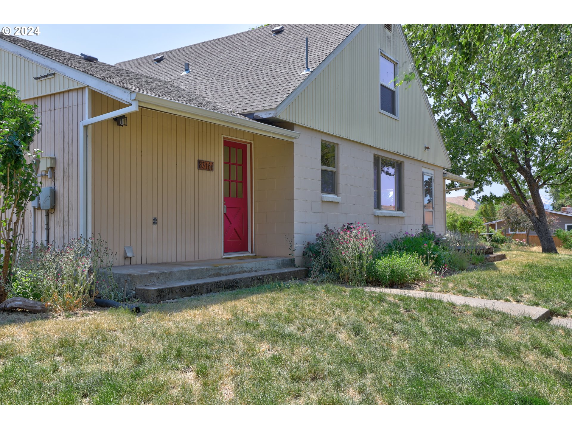
M205 108L213 110L214 112L244 118L240 114L233 112L232 109L220 104L220 102L209 100L208 97L204 97L192 89L181 88L181 86L165 79L133 72L133 70L124 69L105 62L89 62L80 55L31 42L21 37L0 33L0 38L129 91L166 98L198 108Z

